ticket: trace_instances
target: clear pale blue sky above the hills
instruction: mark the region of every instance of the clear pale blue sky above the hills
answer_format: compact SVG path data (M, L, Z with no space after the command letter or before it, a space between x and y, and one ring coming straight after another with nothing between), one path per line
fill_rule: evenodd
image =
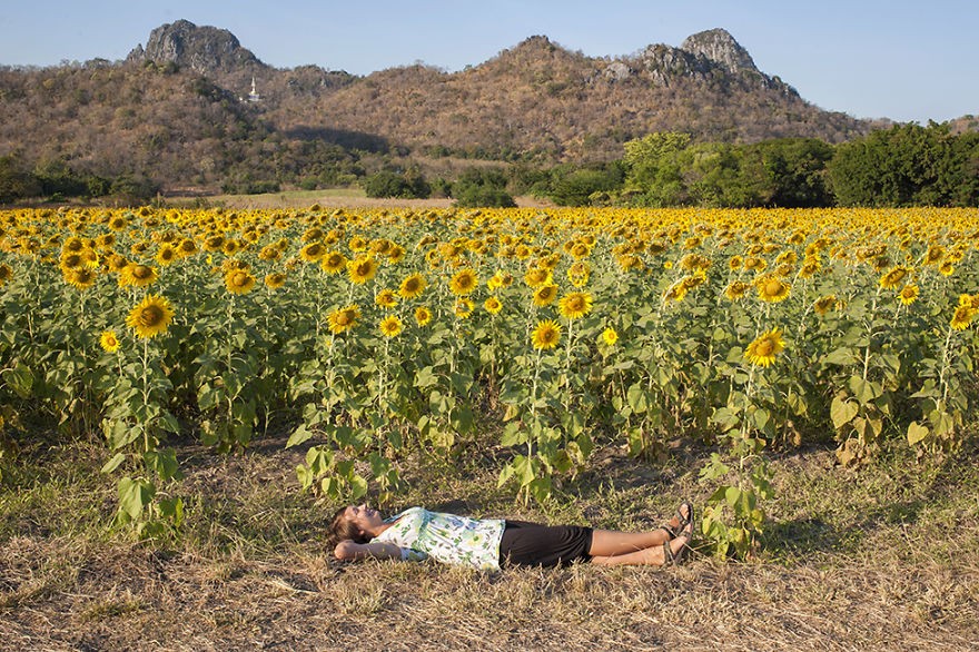
M150 30L187 19L230 30L278 68L367 75L416 61L477 65L533 34L587 56L679 46L726 29L769 75L824 109L859 118L979 115L977 0L426 1L134 0L6 2L0 65L122 59Z

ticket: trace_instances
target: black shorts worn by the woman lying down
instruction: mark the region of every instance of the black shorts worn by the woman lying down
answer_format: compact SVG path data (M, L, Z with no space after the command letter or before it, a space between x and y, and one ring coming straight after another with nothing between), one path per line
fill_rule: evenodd
M506 521L500 541L500 565L558 566L589 562L591 547L591 527Z

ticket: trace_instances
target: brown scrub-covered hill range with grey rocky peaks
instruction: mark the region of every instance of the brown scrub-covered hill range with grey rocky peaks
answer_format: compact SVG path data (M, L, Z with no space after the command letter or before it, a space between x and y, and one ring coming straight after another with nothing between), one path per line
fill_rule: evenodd
M139 170L168 187L288 177L310 160L353 174L349 148L546 165L619 158L651 131L840 142L873 127L807 102L722 29L617 58L535 36L459 72L416 65L360 77L276 69L229 31L180 20L126 61L0 69L0 156Z

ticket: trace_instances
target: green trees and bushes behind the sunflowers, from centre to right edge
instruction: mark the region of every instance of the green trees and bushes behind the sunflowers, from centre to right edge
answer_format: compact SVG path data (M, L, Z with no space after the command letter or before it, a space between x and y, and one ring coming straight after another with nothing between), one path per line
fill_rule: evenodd
M947 124L899 125L835 146L814 138L693 142L688 134L656 132L624 149L610 162L467 170L457 192L417 169L383 170L366 188L377 197L427 197L437 188L462 206L505 206L515 194L560 206L979 206L979 132L955 135ZM482 188L475 195L474 180Z

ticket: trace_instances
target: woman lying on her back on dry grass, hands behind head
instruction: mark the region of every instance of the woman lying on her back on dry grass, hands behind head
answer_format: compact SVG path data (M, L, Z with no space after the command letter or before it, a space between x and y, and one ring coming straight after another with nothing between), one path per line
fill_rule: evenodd
M652 532L617 532L577 525L476 520L412 507L390 518L367 505L339 510L330 525L338 560L432 557L496 571L504 565L556 566L575 561L602 565L663 566L682 562L693 537L693 506L684 501L669 523Z

